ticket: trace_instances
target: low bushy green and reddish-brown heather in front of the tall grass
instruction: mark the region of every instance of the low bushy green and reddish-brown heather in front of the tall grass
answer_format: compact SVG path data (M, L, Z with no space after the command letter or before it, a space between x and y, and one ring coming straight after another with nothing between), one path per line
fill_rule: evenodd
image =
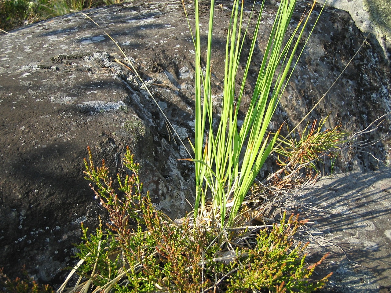
M86 179L109 221L89 236L82 225L80 261L57 293L312 292L329 277L308 279L324 257L308 266L307 245L293 245L305 223L298 216L284 214L271 229L224 229L221 236L210 219L194 225L192 214L173 221L156 210L129 148L123 163L131 175L117 175L115 182L104 161L95 167L90 151L84 163ZM79 279L66 288L75 272Z

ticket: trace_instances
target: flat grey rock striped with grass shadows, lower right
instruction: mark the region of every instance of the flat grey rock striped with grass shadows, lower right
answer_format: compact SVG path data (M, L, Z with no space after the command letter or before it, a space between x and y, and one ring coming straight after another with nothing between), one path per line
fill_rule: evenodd
M310 252L331 252L321 273L333 276L323 291L391 289L391 168L324 177L297 200L302 216L314 222Z

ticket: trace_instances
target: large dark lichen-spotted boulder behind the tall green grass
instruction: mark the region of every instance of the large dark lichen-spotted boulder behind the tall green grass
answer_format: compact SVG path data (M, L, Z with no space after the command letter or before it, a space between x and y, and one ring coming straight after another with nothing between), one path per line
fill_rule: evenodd
M222 90L224 29L230 16L229 5L220 4L212 60L216 103ZM305 2L298 5L294 21L307 7ZM192 18L190 4L187 9ZM207 10L201 7L203 28ZM242 111L248 105L275 11L276 2L266 5ZM187 144L187 137L194 136L194 49L181 2L132 2L86 13L123 48ZM188 154L102 28L76 13L1 36L0 247L4 249L0 259L10 276L26 264L43 282L63 281L60 268L72 263L69 257L72 243L79 241L80 223L92 230L99 215L107 216L83 179L87 145L95 161L106 160L113 176L129 145L142 165L145 188L158 207L173 218L191 210L185 200L192 202L194 193L191 164L176 161ZM291 127L297 123L363 41L348 13L326 8L282 96L271 130L284 120ZM389 112L389 64L377 40L369 39L310 118L332 112L328 127L342 123L343 129L356 132ZM376 168L378 161L366 152L389 160L389 125L387 120L364 136L382 140L365 152L343 155L335 170Z

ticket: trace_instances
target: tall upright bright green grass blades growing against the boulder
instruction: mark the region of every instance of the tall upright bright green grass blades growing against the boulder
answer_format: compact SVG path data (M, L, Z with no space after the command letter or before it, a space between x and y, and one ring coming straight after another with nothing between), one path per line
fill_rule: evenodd
M183 5L185 7L184 2ZM203 214L206 199L211 197L212 214L220 227L233 225L244 198L278 138L278 132L271 136L268 127L292 74L291 66L295 67L294 55L315 2L294 27L292 34L288 33L288 28L296 0L281 0L279 3L267 45L262 48L264 56L258 68L249 109L241 123L239 109L252 65L264 5L265 1L262 1L259 13L256 13L254 2L251 17L255 15L255 27L252 36L248 36L250 21L244 21L244 2L233 2L226 38L224 88L219 115L215 114L212 102L211 82L214 0L210 2L208 40L204 44L206 52L201 52L197 0L194 5L194 30L188 18L195 47L195 139L192 145L194 158L190 159L195 164L194 216L196 218ZM246 37L252 39L252 42L248 55L242 56ZM203 55L206 55L205 76L204 64L201 62ZM244 73L239 75L241 59L245 60L245 66Z

